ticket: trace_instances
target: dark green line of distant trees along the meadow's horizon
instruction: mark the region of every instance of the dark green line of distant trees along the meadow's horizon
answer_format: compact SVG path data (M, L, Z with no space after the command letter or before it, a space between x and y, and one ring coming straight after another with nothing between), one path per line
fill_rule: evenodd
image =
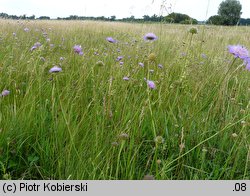
M250 25L250 18L241 18L242 5L238 0L225 0L221 2L218 8L218 15L211 16L207 21L200 21L200 23L212 24L212 25ZM32 16L16 16L8 15L6 13L0 13L0 18L5 19L24 19L24 20L50 20L49 16L40 16L38 18L35 15ZM186 14L181 13L171 13L167 16L158 16L156 14L149 16L144 15L142 18L135 18L130 16L127 18L117 19L116 16L99 16L99 17L89 17L89 16L77 16L70 15L69 17L57 17L56 20L97 20L97 21L121 21L121 22L162 22L162 23L178 23L178 24L198 24L199 21L191 18Z

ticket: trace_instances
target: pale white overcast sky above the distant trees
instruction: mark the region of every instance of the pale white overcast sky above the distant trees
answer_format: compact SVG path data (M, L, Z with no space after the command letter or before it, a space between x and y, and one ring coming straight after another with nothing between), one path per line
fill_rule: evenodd
M239 0L242 17L250 18L250 0ZM161 9L162 2L166 9ZM215 15L222 0L0 0L0 12L10 15L50 16L51 18L115 15L124 18L179 12L205 20ZM208 11L208 12L207 12ZM207 14L206 14L207 13Z

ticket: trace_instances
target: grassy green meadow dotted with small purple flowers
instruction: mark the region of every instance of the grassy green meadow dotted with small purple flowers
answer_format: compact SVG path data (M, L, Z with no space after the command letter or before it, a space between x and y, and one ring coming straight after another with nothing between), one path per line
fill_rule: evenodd
M0 24L0 179L250 179L250 27Z

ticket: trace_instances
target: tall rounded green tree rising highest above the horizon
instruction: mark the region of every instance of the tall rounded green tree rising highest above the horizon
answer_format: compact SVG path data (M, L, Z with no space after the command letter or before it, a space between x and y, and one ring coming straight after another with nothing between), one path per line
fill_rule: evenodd
M225 0L221 2L218 15L222 18L223 25L236 25L242 14L242 6L237 0Z

